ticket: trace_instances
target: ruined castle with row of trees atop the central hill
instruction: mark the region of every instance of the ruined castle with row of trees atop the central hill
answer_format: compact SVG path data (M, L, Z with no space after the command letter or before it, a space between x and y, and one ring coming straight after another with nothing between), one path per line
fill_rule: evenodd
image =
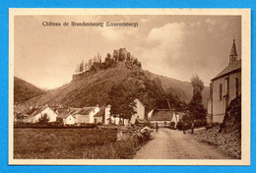
M124 62L129 68L132 68L134 65L141 68L141 63L137 58L134 58L134 56L125 48L119 48L113 50L112 55L107 53L103 62L102 57L98 53L94 58L89 59L86 63L82 61L82 63L77 65L75 74L73 75L73 81L88 77L99 70L116 67L118 62Z

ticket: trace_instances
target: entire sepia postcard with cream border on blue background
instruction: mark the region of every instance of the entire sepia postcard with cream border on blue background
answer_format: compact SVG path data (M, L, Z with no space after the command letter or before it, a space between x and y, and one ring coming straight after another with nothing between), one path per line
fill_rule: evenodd
M250 164L250 10L9 17L9 164Z

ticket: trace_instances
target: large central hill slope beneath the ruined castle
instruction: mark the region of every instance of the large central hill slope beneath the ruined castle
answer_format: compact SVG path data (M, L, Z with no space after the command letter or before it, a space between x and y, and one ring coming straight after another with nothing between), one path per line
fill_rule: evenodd
M181 98L180 101L186 102L189 102L192 97L192 87L189 83L161 77L136 66L127 67L125 62L119 62L115 67L97 71L95 74L73 80L62 87L48 90L47 93L32 98L26 104L103 106L109 102L111 88L120 84L127 87L149 109L167 108L167 102L162 97L166 92L169 93L168 100L171 106L179 101L176 96Z

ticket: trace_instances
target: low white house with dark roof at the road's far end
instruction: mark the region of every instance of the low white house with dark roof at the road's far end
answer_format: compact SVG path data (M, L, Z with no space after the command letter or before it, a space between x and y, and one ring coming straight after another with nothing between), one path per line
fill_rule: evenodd
M179 121L179 116L175 114L174 109L154 109L148 120L153 127L157 124L159 127L170 127L171 122Z

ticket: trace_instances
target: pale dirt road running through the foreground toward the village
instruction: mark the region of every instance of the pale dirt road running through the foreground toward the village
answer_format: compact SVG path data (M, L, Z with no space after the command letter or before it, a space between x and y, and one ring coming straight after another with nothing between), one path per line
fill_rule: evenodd
M183 135L182 131L160 129L134 159L230 159L214 146L200 143L191 136Z

